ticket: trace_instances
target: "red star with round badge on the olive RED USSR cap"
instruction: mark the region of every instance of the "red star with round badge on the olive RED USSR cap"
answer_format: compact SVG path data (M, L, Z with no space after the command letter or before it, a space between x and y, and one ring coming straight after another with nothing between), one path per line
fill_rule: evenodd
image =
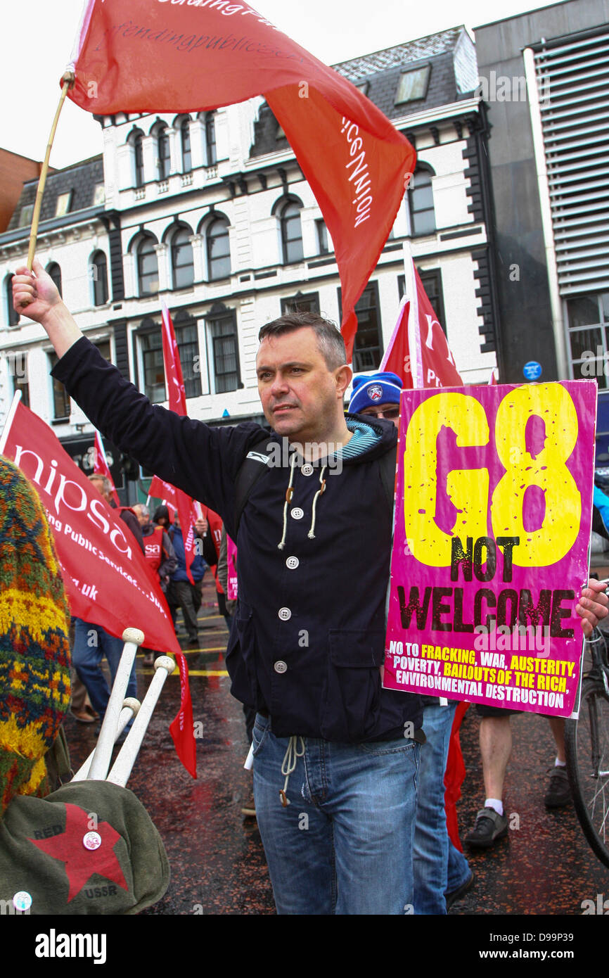
M83 837L90 830L89 813L77 805L65 804L65 832L51 839L29 839L38 849L65 863L65 874L69 881L67 901L79 893L94 872L106 876L123 890L129 887L123 871L114 855L114 845L121 838L109 822L100 822L97 831L102 838L99 849L85 849Z

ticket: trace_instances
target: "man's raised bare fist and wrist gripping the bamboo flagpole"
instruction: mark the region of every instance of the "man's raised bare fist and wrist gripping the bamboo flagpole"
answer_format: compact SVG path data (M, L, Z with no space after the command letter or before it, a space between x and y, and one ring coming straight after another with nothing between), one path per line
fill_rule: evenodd
M63 357L82 336L53 279L37 259L34 259L33 272L26 265L17 269L13 277L13 305L17 313L40 323L58 357Z

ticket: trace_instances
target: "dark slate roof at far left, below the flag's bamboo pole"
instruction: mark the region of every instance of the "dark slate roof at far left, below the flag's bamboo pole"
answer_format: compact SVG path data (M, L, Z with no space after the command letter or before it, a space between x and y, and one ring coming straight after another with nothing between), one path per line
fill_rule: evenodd
M95 188L104 183L104 157L92 156L82 162L65 166L63 170L55 170L47 176L47 183L42 198L40 222L52 220L55 217L57 199L62 194L72 192L69 214L78 210L87 210L94 205ZM23 184L20 197L7 232L16 231L21 226L22 208L33 204L36 197L37 180L28 180ZM67 214L65 215L67 217Z

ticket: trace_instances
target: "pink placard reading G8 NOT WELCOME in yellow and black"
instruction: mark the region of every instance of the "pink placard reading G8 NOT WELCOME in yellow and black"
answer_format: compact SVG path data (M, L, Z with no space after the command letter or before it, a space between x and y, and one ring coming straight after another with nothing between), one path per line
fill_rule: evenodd
M567 717L596 383L402 394L383 686Z

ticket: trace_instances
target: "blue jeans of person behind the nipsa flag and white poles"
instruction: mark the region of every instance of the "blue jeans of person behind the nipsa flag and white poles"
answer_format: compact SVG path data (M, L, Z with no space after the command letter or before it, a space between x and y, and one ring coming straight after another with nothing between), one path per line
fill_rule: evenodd
M72 664L79 679L87 688L94 710L103 718L109 700L109 688L106 677L102 672L101 662L104 655L108 659L109 672L114 682L123 641L115 639L105 632L101 625L93 625L82 618L73 618L74 647L72 649ZM127 685L127 696L137 696L138 685L135 678L135 662Z

